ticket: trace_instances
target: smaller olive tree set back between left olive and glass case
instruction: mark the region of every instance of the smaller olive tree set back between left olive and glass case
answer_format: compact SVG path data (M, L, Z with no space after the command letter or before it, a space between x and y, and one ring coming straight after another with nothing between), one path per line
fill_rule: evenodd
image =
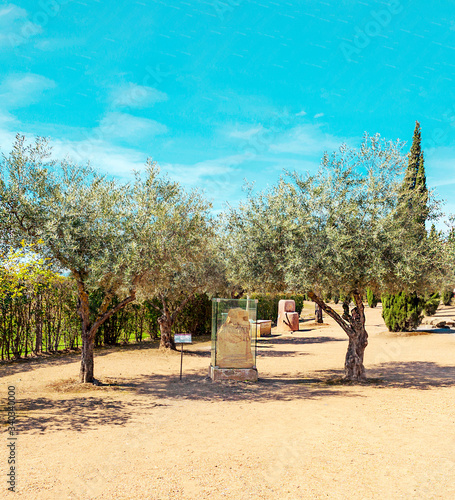
M153 239L154 250L141 295L157 299L150 305L160 313L161 348L175 349L172 327L196 295L227 286L210 208L197 192L179 189L174 203L167 206L165 223L151 235L142 233ZM142 238L137 244L149 245Z

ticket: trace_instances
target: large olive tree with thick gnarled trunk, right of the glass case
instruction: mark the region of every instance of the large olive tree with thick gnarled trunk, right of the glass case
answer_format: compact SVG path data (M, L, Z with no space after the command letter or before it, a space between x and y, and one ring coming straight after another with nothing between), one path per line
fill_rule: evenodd
M366 288L431 288L442 269L426 240L404 237L417 230L416 219L403 224L394 216L406 162L401 149L366 135L358 149L342 145L325 154L317 174L287 174L264 193L250 191L227 215L231 273L249 289L270 289L275 279L306 292L346 332L350 380L365 378ZM330 291L352 297L353 307L336 312L322 298Z

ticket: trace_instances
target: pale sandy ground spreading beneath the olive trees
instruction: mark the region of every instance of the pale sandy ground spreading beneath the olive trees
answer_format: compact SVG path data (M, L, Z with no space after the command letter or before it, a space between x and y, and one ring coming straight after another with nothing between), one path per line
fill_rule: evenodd
M327 382L347 347L327 318L260 339L258 383L207 381L209 342L188 347L182 382L180 355L151 343L96 353L112 386L72 384L76 354L2 365L19 436L17 493L4 444L0 498L455 498L455 334L391 334L380 312L366 385Z

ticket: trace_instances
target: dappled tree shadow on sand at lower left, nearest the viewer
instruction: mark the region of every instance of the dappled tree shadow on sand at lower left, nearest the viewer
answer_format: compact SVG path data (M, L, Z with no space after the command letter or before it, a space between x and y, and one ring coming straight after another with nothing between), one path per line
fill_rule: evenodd
M25 398L17 401L17 429L19 433L44 434L57 431L90 431L100 426L125 425L137 412L134 401L112 401L103 397L73 394L70 399ZM112 397L112 393L110 394ZM157 401L140 402L141 409L149 412Z

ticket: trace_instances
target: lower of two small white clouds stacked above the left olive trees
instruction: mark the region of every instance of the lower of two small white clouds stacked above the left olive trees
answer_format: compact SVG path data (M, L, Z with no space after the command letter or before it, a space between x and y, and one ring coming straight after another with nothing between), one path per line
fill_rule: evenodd
M105 138L136 141L167 132L166 125L149 118L141 118L127 113L109 112L100 122L97 133Z

